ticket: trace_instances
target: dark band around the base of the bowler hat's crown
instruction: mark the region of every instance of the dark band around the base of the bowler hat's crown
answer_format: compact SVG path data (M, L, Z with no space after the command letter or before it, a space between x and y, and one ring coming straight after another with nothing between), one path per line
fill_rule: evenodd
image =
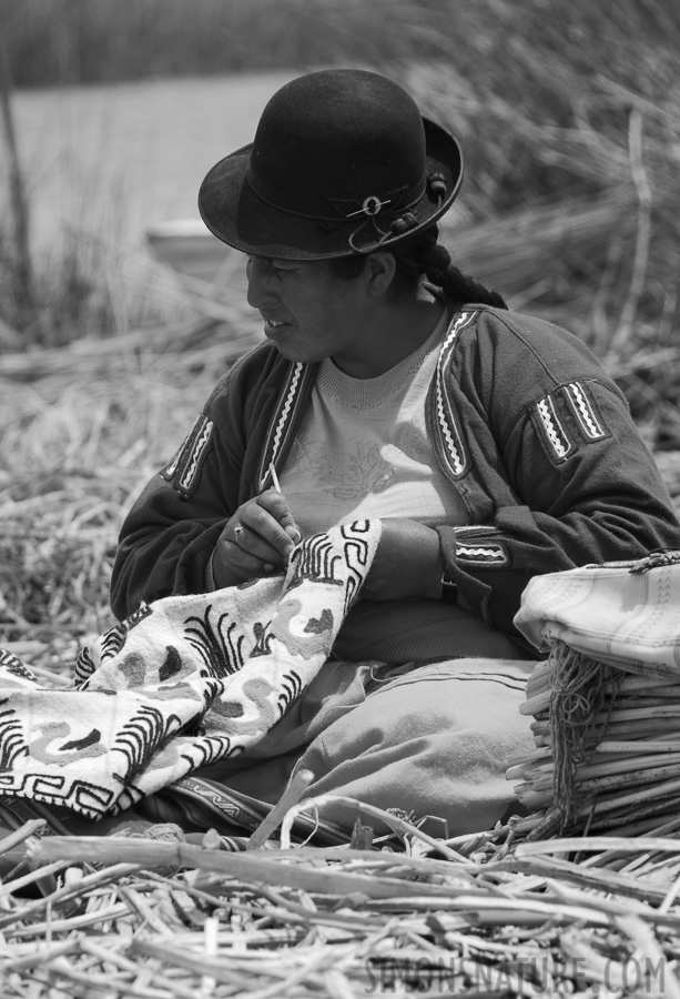
M301 219L312 219L316 222L334 222L335 224L341 224L345 220L347 222L358 221L357 216L362 214L368 218L397 215L414 208L423 199L426 190L426 179L423 176L415 188L408 190L408 186L403 184L394 191L388 191L385 196L369 194L363 200L358 198L328 198L326 204L335 210L335 214L327 215L322 211L314 213L301 211L297 203L290 195L284 194L258 176L252 163L247 168L245 179L257 198L271 208L286 212L290 215L297 215Z

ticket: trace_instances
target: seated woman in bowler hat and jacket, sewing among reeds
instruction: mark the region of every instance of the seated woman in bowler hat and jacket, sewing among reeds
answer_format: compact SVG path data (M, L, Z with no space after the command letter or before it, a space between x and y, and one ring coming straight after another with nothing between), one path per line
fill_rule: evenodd
M379 518L337 660L247 757L203 773L275 801L308 767L308 794L438 816L450 834L512 806L536 657L512 617L531 576L680 547L586 346L510 313L439 244L461 176L456 140L380 75L311 73L272 98L200 193L209 229L248 255L267 342L134 505L112 581L124 617L280 572L300 536Z

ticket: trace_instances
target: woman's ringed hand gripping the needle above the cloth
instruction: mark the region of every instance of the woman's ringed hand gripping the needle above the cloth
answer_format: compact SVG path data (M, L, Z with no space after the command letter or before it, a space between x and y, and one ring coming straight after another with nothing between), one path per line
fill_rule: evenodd
M217 589L284 568L301 532L286 497L267 490L243 503L226 523L213 553Z

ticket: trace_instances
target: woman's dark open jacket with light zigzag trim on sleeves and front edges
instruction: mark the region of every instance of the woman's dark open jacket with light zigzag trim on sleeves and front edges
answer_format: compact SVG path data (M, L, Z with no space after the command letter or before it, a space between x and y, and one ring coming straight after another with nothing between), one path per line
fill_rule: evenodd
M264 343L220 381L123 524L119 617L201 593L237 506L285 461L316 365ZM459 602L501 630L531 576L680 548L680 524L623 395L576 336L481 305L457 312L429 389L437 460L470 525L438 528Z

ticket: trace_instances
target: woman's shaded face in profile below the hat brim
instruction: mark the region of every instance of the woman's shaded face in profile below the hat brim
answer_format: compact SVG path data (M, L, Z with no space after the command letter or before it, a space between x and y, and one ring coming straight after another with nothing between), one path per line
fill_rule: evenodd
M284 357L333 357L343 370L361 363L359 282L336 278L323 260L248 256L246 274L248 304L260 311L265 336Z

